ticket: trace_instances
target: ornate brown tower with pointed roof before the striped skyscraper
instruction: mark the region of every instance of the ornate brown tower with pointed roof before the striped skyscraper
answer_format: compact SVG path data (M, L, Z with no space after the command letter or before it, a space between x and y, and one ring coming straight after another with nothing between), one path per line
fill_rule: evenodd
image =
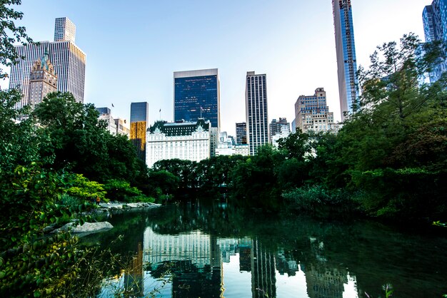
M32 109L44 100L51 92L57 91L57 76L54 73L53 64L49 59L48 51L45 51L41 60L34 62L29 75L29 93L27 104Z

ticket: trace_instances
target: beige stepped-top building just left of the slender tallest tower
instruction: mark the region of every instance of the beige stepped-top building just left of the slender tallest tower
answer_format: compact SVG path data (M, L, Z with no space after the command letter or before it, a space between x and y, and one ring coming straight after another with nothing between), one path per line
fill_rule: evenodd
M326 105L324 88L316 88L313 96L300 96L295 103L296 128L303 133L308 130L336 131L338 125L333 123L333 113Z

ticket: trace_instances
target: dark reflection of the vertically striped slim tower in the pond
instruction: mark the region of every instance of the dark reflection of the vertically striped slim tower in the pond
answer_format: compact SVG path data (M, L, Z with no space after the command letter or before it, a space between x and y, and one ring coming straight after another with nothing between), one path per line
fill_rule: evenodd
M276 297L275 256L257 239L251 249L251 294L253 298Z

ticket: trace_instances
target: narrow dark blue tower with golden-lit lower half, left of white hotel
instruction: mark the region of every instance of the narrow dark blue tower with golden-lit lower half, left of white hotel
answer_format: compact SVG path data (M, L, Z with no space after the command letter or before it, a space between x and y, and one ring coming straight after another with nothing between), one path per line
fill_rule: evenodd
M149 124L149 103L131 103L131 141L136 154L146 161L146 130Z

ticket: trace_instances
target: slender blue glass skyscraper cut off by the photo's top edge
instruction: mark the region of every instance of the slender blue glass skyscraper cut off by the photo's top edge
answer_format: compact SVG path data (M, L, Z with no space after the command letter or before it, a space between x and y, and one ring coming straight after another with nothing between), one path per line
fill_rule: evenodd
M358 96L351 0L332 0L332 7L337 51L338 93L343 121L344 113L353 111L353 104L356 103Z

